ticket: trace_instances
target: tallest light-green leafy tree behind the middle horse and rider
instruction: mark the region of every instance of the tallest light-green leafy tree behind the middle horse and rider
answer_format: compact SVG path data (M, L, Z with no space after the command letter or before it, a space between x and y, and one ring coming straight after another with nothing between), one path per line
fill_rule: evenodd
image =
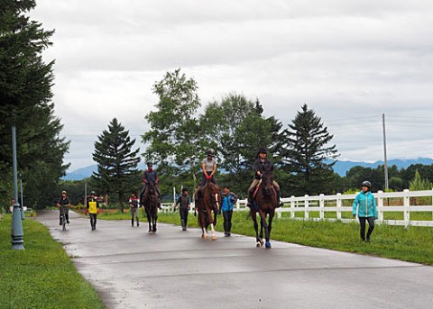
M176 165L180 167L179 173L188 172L195 182L194 170L197 169L197 156L201 152L198 144L201 134L196 116L200 106L197 83L181 74L178 68L172 73L167 72L152 90L158 95L159 102L155 105L157 111L145 116L151 130L142 136L144 143L150 143L143 156L164 167ZM158 169L160 172L160 167ZM178 177L179 173L171 177Z

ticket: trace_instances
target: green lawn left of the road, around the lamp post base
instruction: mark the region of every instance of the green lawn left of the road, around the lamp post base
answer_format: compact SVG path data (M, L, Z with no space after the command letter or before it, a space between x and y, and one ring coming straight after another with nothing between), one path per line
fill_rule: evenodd
M41 223L23 221L25 250L12 250L11 224L0 221L0 308L104 308Z

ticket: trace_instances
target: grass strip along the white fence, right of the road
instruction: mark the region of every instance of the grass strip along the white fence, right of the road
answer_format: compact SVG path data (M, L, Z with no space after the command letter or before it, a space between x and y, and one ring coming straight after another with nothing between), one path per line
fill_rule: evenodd
M352 214L348 213L344 217L352 217ZM102 214L100 218L130 219L130 214ZM146 222L143 214L141 220ZM160 213L158 221L180 225L180 216ZM217 231L223 231L222 222L223 217L219 215ZM197 218L189 215L188 225L198 227ZM246 213L235 212L232 232L255 236L253 221L246 217ZM271 238L275 241L433 265L433 229L428 227L412 226L405 229L402 226L376 224L372 241L364 243L359 237L358 223L290 220L290 214L285 214L282 219L273 221Z

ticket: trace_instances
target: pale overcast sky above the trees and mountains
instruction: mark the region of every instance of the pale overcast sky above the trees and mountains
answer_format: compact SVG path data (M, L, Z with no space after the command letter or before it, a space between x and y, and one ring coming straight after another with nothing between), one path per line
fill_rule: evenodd
M433 158L433 2L37 0L55 30L55 113L71 141L69 171L95 164L94 141L116 117L149 129L152 85L181 68L202 105L231 92L259 98L286 127L307 103L339 159Z

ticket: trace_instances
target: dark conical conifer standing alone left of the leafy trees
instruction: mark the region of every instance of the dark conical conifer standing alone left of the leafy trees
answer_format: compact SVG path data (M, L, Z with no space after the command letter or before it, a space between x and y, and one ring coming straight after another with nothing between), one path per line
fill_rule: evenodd
M97 183L97 194L117 194L120 211L123 212L125 195L136 189L139 179L137 165L140 149L132 150L135 139L131 140L129 131L114 118L108 124L108 131L103 131L95 141L93 159L97 162L97 172L93 178Z

